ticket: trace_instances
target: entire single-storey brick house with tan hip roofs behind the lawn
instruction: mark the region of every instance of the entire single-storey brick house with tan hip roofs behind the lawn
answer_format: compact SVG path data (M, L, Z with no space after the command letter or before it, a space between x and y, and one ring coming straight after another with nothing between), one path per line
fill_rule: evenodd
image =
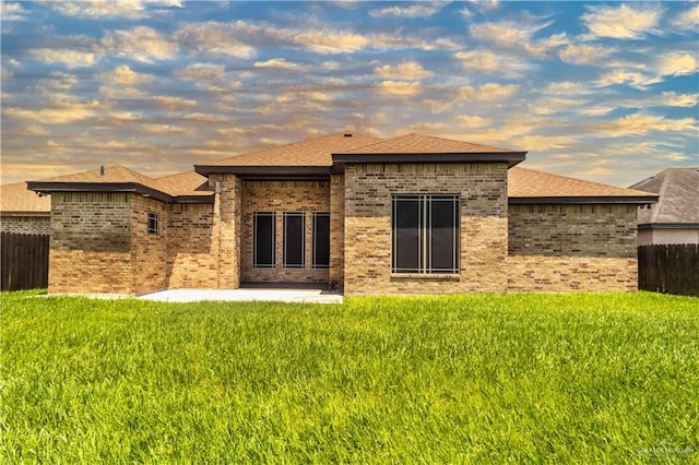
M51 194L50 293L309 283L364 294L635 290L657 196L516 167L525 153L352 132Z

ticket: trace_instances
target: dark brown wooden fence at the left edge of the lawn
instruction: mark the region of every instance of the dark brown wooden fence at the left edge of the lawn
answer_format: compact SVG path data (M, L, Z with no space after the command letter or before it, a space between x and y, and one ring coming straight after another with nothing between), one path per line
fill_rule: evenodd
M48 287L48 236L2 233L2 290Z

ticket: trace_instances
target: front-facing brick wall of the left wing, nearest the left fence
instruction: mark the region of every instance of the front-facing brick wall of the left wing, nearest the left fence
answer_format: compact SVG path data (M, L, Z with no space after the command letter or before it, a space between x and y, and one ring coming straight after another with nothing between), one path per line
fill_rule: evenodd
M132 293L129 195L51 194L49 293Z

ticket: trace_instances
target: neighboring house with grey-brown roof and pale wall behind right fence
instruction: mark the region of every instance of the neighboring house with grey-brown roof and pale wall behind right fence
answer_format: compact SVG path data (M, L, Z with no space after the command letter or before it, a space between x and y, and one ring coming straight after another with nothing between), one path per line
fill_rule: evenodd
M660 195L639 206L639 246L699 243L699 167L667 168L629 189Z

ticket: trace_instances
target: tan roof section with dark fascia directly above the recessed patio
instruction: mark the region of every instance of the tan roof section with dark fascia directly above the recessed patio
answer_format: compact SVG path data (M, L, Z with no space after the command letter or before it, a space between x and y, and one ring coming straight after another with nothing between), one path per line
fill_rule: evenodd
M339 132L322 138L280 145L244 155L235 155L208 165L196 165L197 172L235 174L330 174L332 154L371 144L379 139L355 132Z

